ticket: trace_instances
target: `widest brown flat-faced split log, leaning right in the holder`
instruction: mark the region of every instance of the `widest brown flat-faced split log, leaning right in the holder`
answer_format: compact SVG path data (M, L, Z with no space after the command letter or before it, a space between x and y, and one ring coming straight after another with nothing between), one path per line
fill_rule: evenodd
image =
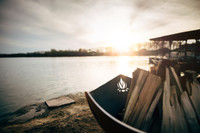
M132 110L128 124L134 125L134 127L140 128L145 115L156 95L156 92L161 84L161 78L159 76L149 74L144 87L141 90L138 101L135 108Z

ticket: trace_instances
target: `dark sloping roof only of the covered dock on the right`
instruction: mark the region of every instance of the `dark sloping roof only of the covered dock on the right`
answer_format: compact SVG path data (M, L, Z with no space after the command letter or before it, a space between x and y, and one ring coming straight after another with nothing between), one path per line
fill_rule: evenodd
M200 29L151 38L150 41L184 41L188 39L200 39Z

